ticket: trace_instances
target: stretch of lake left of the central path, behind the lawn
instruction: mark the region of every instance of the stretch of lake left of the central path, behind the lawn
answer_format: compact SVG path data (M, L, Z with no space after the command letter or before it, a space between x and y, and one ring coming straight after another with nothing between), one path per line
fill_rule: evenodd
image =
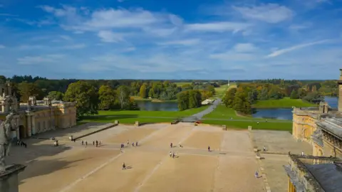
M136 101L142 111L178 111L177 102Z

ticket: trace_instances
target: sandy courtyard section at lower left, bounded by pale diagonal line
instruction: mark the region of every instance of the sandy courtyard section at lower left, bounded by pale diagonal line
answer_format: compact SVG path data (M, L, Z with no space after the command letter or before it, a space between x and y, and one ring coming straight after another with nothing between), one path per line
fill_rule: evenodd
M120 153L118 150L73 149L56 156L45 156L28 164L19 174L19 191L60 191L88 171Z

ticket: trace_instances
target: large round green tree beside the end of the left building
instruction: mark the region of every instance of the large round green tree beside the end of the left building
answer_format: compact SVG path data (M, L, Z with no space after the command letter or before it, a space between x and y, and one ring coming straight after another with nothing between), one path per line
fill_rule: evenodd
M98 113L98 92L88 82L79 80L68 86L64 94L66 102L76 102L77 117Z

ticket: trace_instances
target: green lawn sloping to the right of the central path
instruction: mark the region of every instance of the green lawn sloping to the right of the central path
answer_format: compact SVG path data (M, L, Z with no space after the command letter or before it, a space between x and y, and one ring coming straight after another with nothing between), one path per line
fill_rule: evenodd
M229 120L230 118L232 120ZM269 130L283 130L291 131L292 122L289 120L269 120L271 122L265 122L266 119L253 118L253 117L240 117L237 116L234 110L219 105L216 109L205 115L203 123L206 124L218 124L227 125L233 129L247 129L248 126L252 126L253 129L269 129ZM228 121L227 121L228 120ZM259 122L259 124L257 124Z

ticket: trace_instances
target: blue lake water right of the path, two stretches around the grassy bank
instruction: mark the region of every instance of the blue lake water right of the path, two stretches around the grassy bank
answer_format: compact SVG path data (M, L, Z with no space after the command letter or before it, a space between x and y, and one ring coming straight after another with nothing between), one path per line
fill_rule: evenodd
M328 104L337 108L338 98L337 97L324 97L324 100ZM292 109L291 108L276 108L276 109L257 109L257 112L252 114L253 117L266 118L266 119L287 119L292 120Z

